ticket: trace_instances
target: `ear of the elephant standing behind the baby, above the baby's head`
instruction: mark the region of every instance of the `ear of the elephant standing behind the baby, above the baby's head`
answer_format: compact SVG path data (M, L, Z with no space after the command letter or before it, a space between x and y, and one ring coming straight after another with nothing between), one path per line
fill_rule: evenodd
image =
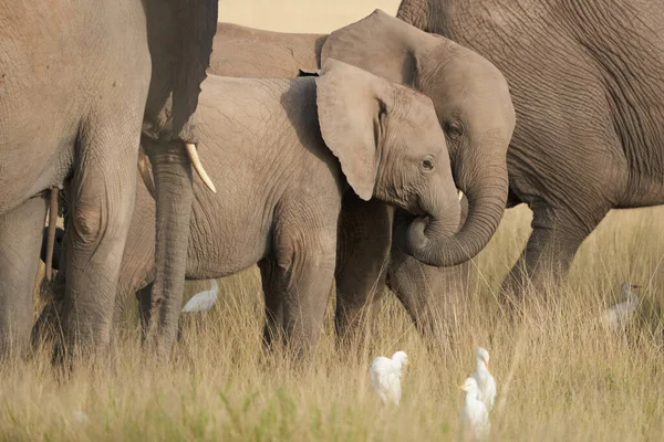
M433 36L376 9L371 15L330 34L321 63L335 59L393 83L412 85L417 51Z

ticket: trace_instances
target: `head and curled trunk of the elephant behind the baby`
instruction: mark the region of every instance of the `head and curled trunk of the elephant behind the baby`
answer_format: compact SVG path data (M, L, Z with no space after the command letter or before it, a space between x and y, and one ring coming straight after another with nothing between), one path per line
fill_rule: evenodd
M516 117L502 74L477 53L381 10L333 32L321 61L330 57L430 97L456 185L468 199L468 218L452 238L437 234L435 218L416 218L407 248L417 260L436 266L456 265L479 253L498 228L508 194L506 157Z

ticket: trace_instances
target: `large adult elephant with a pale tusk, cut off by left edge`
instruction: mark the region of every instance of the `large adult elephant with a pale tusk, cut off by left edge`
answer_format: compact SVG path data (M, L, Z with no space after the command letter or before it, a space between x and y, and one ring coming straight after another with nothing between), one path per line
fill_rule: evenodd
M157 185L155 298L162 307L159 347L169 347L176 316L159 299L181 292L178 248L186 249L191 201L185 146L197 162L194 117L216 22L212 0L28 0L0 7L3 356L29 343L44 196L65 183L72 196L65 345L107 344L139 138Z

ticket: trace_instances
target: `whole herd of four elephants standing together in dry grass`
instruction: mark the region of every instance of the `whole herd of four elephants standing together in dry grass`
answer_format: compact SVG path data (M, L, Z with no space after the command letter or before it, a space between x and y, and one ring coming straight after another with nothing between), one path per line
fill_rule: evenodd
M384 285L440 340L506 208L533 211L515 302L610 209L664 203L656 2L403 0L329 35L217 23L210 0L74 3L0 7L3 356L29 346L59 190L35 330L56 318L64 352L104 349L138 294L168 354L185 278L253 264L268 343L315 345L332 292L352 336Z

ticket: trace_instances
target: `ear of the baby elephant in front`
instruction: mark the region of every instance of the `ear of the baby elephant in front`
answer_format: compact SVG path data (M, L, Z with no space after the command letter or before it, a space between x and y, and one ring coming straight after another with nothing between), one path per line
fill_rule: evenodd
M339 158L349 185L369 201L376 182L382 116L392 107L393 86L333 59L325 62L315 82L323 140Z

